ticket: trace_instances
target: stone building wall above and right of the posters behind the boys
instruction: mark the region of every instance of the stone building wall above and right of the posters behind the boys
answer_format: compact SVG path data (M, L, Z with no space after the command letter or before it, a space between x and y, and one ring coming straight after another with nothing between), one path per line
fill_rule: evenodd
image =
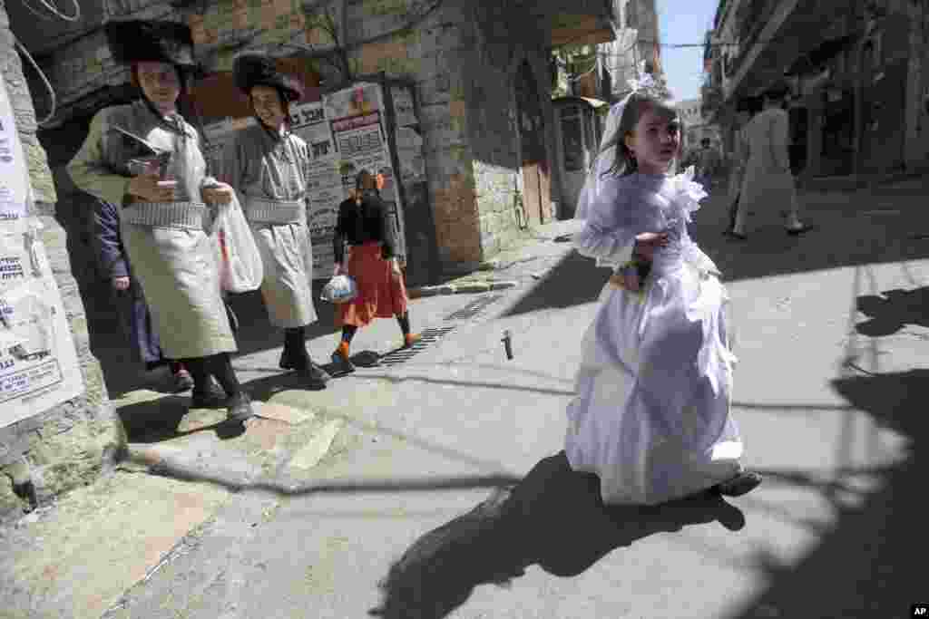
M522 233L515 204L521 181L514 85L524 60L530 62L543 91L548 161L556 161L556 125L547 91L551 16L545 11L549 9L469 0L321 0L307 4L332 10L355 74L383 72L416 84L441 269L467 271L518 239ZM187 19L198 53L207 55L209 68L225 70L241 46L281 54L299 54L299 45L304 52L331 48L332 42L312 27L301 5L302 0L223 0L194 3L179 11L164 2L146 4L146 15L133 17L160 11L159 17ZM66 101L75 107L92 99L88 95L91 85L100 92L124 80L110 66L107 53L99 50L98 35L90 33L85 38L46 58L49 71L58 71L59 81L68 80L53 69L61 58L88 71L65 88L68 97L79 97ZM287 43L297 47L277 46ZM331 83L333 76L325 77ZM550 193L557 195L557 171L552 168ZM76 222L69 232L83 235L82 226ZM84 261L85 254L81 255Z

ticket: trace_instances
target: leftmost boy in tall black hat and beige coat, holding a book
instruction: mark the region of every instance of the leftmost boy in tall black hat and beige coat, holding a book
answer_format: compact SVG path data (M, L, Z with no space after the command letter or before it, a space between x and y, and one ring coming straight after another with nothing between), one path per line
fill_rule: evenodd
M233 189L206 175L200 135L177 111L197 63L190 29L171 21L112 21L113 57L130 64L142 97L100 110L68 165L77 187L122 207L129 262L145 290L164 354L193 376L193 407L253 415L229 360L236 342L206 227ZM210 376L225 393L211 389Z

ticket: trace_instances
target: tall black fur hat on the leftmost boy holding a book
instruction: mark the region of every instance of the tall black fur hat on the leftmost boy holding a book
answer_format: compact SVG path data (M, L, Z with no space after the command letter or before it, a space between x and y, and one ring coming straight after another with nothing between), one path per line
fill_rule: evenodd
M104 27L117 62L168 62L182 69L199 68L193 57L190 27L177 21L129 19Z

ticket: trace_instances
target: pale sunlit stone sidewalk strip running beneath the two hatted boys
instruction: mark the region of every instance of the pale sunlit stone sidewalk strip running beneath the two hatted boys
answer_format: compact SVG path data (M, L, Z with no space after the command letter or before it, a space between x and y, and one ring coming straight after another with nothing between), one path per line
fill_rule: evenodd
M545 226L540 238L562 235L562 228ZM413 328L427 330L473 299L461 291L491 290L487 282L508 290L520 285L517 279L534 281L530 265L552 264L566 251L564 243L524 244L502 254L504 262L497 264L504 269L460 277L441 293L417 295L429 298L412 301ZM280 334L268 328L260 300L243 295L233 307L242 322L243 353L233 366L257 413L242 429L224 424L223 410L188 411L189 393L160 391L168 378L164 371L140 376L127 363L115 323L102 314L92 316L98 328L94 353L123 419L128 449L111 475L0 529L0 599L5 600L0 618L97 619L164 561L189 551L198 531L228 508L240 489L280 481L285 473L305 478L327 455L349 448L350 433L343 432L347 406L376 406L389 399L383 385L354 381L346 389L339 381L347 379L339 378L326 391L305 391L294 375L278 368ZM327 325L332 308L321 302L318 308L320 324L311 329L307 348L325 360L338 336ZM113 337L100 333L107 330ZM360 331L353 353L384 354L399 342L395 321L378 320ZM271 517L274 505L268 501L268 513L259 510L259 519Z

